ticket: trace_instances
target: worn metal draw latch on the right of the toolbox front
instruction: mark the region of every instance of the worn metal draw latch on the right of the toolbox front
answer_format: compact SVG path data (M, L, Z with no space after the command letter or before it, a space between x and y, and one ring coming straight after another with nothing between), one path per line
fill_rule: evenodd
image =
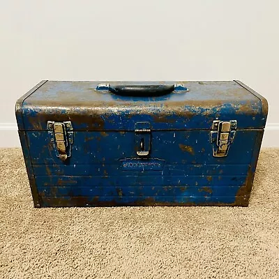
M213 144L213 156L225 157L229 151L229 146L234 141L236 133L236 120L220 121L214 120L210 133L211 144Z

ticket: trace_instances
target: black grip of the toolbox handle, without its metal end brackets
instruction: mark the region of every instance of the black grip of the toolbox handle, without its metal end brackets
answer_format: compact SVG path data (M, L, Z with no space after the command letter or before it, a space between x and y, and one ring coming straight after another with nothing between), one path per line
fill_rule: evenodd
M109 87L109 91L121 96L153 97L164 96L174 91L173 85L116 85Z

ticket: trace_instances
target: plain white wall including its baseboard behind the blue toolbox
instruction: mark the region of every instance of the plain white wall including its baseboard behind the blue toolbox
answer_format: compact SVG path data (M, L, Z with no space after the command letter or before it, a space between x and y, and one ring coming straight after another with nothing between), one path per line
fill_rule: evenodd
M279 146L279 1L1 1L0 146L40 80L241 80L269 100Z

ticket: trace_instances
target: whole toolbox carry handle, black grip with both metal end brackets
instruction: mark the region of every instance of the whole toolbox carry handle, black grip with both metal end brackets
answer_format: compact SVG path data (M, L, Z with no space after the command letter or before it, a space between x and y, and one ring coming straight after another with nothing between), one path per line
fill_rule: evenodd
M183 84L172 85L110 85L98 84L96 90L110 91L120 96L141 96L141 97L155 97L164 96L174 91L188 91Z

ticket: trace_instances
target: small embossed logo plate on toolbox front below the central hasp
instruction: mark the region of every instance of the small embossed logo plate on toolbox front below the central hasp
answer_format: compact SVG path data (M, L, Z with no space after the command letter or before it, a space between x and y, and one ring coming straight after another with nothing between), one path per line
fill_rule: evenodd
M160 159L124 159L120 160L123 170L151 171L163 170L165 160Z

